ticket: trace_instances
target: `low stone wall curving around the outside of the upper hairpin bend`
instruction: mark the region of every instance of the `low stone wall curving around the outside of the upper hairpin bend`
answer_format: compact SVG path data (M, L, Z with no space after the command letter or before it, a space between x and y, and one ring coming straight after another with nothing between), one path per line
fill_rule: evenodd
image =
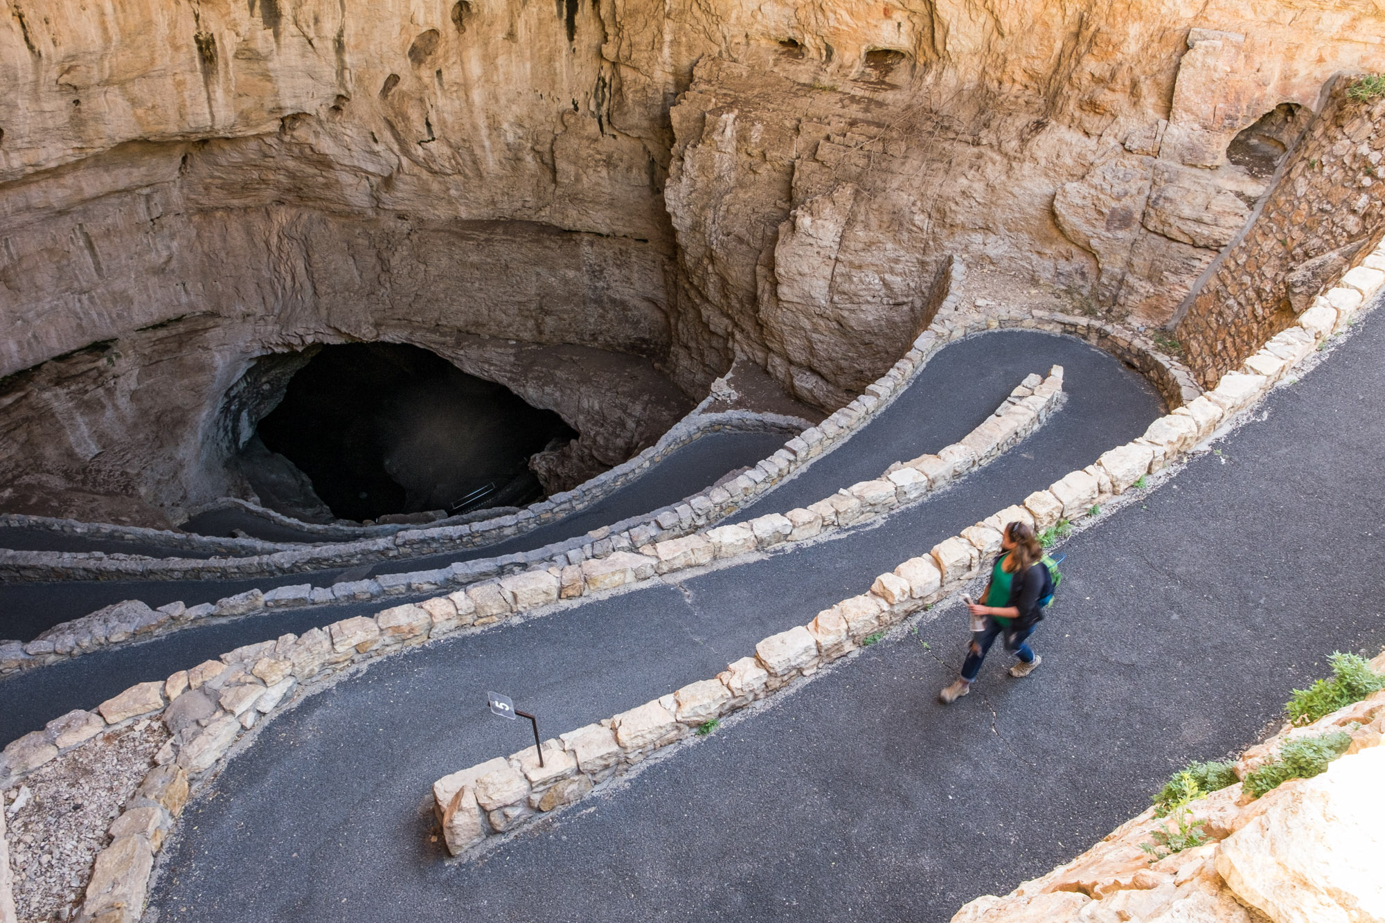
M1054 312L1000 310L989 315L964 316L956 312L956 297L950 297L950 302L945 301L939 317L914 341L909 353L895 363L891 371L870 385L866 395L835 412L819 425L803 430L755 468L749 468L745 474L722 486L706 488L681 503L530 552L478 559L445 568L384 574L371 579L348 581L332 586L299 583L271 590L252 589L223 597L216 603L191 607L176 601L151 610L143 603L127 600L79 619L55 625L26 644L0 642L0 675L60 662L111 643L177 631L195 625L208 617L240 617L265 608L296 608L334 604L343 600L428 593L449 585L468 586L526 570L579 565L591 559L609 557L616 552L690 535L733 516L738 509L759 499L777 484L801 471L816 457L842 445L857 428L897 398L940 348L953 340L988 330L1028 328L1079 337L1141 371L1154 383L1169 406L1186 405L1201 394L1187 369L1159 352L1151 340L1133 331L1087 317ZM3 559L3 553L0 553L0 559ZM145 559L145 561L148 560ZM122 567L133 567L138 561L130 560L120 564ZM114 631L111 631L112 628Z

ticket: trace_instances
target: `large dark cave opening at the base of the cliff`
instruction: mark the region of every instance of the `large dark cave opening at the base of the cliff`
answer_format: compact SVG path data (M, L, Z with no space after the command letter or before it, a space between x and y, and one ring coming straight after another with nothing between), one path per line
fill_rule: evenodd
M296 511L320 499L357 521L522 506L543 496L529 457L578 437L504 385L400 344L319 348L255 435L241 467L266 506ZM316 498L292 496L296 473Z

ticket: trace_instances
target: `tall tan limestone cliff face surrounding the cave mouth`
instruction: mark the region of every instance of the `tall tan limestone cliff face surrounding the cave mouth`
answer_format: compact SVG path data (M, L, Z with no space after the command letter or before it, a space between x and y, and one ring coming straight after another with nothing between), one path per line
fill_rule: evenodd
M310 342L492 369L611 463L687 399L629 423L661 374L698 396L745 356L849 398L953 255L1162 322L1265 187L1228 147L1273 154L1331 73L1385 69L1382 25L1348 0L15 0L0 374L30 371L0 486L173 516L234 491L219 396ZM93 344L64 362L100 374L42 369ZM507 358L557 346L542 376Z

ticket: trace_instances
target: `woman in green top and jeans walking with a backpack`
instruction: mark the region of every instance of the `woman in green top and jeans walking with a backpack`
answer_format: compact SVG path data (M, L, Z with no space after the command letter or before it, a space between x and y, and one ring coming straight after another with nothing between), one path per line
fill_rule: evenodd
M1011 522L1000 536L1000 547L1001 554L990 571L990 583L986 585L981 604L967 606L972 615L985 615L986 621L981 631L972 632L961 676L938 693L938 700L945 705L971 692L981 661L986 660L986 651L997 635L1004 636L1006 650L1019 657L1019 662L1010 668L1011 676L1028 676L1043 661L1025 643L1043 618L1039 600L1051 592L1048 568L1043 564L1043 546L1035 538L1033 528Z

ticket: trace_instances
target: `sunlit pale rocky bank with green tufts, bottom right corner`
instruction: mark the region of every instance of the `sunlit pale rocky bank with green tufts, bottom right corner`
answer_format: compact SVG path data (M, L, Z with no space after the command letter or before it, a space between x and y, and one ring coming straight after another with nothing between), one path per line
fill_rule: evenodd
M1371 667L1385 672L1385 653ZM953 923L1379 919L1385 692L1307 728L1285 725L1242 755L1235 776L1244 780L1291 737L1338 729L1350 735L1352 744L1321 776L1291 779L1255 800L1237 782L1190 802L1188 815L1202 823L1205 844L1152 861L1141 844L1173 827L1150 808L1048 874L1006 897L971 901ZM1359 911L1364 913L1356 916Z

